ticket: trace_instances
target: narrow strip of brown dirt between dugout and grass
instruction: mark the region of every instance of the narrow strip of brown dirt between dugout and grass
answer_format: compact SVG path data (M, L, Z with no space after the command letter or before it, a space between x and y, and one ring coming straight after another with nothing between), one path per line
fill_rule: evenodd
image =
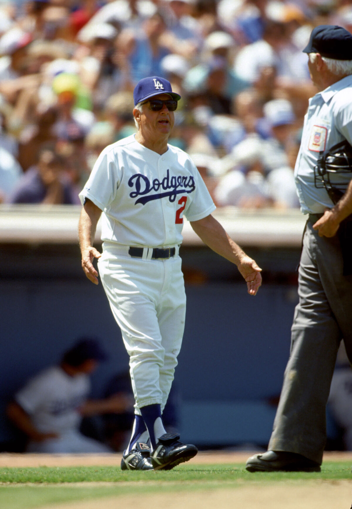
M255 451L199 451L192 464L207 463L245 463ZM114 466L119 465L122 453L106 455L48 455L48 454L8 454L0 453L1 467L69 467L69 466ZM326 452L325 461L351 461L351 452Z

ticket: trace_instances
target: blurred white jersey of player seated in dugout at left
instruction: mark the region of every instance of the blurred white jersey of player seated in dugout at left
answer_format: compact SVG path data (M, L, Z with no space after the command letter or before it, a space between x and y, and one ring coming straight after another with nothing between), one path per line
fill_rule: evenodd
M42 433L64 433L80 425L78 408L90 391L85 374L71 377L60 366L52 366L31 379L15 395L16 402L31 416Z

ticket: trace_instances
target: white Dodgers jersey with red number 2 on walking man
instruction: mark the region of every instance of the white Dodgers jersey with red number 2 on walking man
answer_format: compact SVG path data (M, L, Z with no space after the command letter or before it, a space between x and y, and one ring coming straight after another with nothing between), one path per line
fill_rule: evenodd
M79 194L102 211L102 240L133 246L181 244L183 217L215 205L191 158L168 145L160 155L128 136L106 147Z

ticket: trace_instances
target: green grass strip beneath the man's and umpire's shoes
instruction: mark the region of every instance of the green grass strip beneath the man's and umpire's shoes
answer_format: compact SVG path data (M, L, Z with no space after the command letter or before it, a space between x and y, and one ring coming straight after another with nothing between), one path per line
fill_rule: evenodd
M321 472L311 473L249 473L245 470L244 464L197 466L190 464L180 465L171 471L158 472L123 472L119 467L107 466L1 468L0 506L2 509L39 509L59 502L130 495L132 490L134 494L148 494L236 488L243 486L244 483L267 484L304 480L324 482L338 479L352 479L350 462L327 461L323 463Z

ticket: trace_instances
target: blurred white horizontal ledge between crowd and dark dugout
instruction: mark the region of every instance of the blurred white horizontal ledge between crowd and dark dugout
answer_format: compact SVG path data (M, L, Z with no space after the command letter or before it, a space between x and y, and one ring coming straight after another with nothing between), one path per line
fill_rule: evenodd
M76 243L80 206L1 205L1 243ZM299 210L217 209L213 214L227 233L243 246L299 247L305 216ZM100 239L98 223L96 240ZM201 245L201 240L185 221L185 245Z

